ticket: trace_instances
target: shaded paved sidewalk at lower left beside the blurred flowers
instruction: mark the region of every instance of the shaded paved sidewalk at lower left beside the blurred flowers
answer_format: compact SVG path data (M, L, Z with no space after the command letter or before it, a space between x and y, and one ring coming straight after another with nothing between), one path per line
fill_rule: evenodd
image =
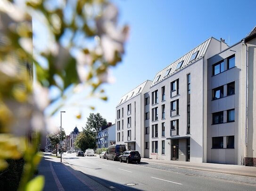
M107 191L80 171L74 170L60 158L48 154L42 156L38 166L40 175L45 177L44 191Z

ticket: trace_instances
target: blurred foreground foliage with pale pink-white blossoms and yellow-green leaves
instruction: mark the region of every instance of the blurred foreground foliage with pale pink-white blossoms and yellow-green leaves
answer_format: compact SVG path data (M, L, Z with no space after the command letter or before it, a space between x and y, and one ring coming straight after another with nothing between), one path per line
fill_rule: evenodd
M24 159L18 190L43 188L44 179L33 175L40 132L53 126L44 109L66 99L69 87L90 87L107 100L101 84L111 81L128 34L127 26L117 27L117 13L108 0L0 0L0 171L12 167L8 159ZM52 88L58 96L50 97Z

